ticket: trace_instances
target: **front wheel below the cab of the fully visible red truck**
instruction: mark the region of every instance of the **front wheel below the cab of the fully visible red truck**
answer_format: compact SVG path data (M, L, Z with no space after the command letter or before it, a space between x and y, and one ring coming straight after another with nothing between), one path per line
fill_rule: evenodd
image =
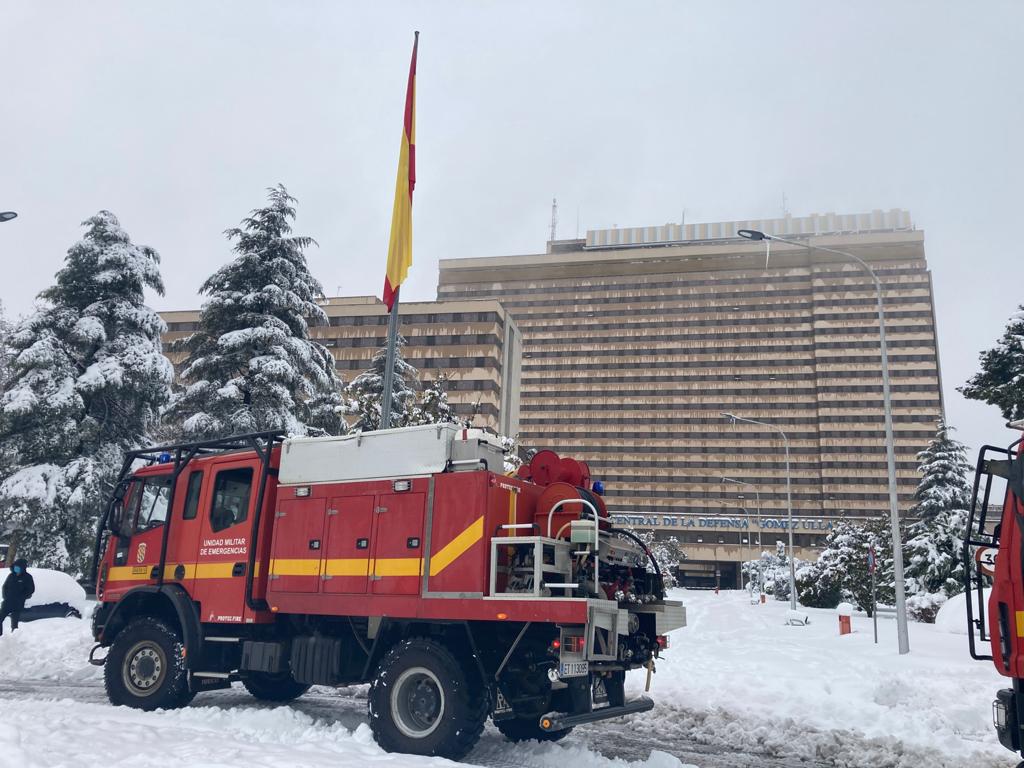
M103 685L111 703L137 710L173 710L195 695L181 637L152 616L134 620L114 639Z

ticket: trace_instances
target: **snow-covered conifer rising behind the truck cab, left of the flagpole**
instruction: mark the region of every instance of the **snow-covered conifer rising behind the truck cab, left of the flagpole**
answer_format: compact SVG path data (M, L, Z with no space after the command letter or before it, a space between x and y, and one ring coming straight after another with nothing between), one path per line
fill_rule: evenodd
M267 191L265 207L227 230L236 256L203 284L209 299L199 329L175 344L185 352L184 389L167 416L194 439L340 428L321 408L324 398L340 404L332 402L340 390L334 357L309 338L310 324L328 322L303 253L313 240L291 234L296 201L288 190Z

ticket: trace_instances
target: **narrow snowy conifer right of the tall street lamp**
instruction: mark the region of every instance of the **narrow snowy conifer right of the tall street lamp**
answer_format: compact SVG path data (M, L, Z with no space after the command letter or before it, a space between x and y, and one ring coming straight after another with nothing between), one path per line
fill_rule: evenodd
M967 446L951 436L953 427L941 419L935 437L918 454L921 484L914 492L916 505L910 510L918 520L909 526L906 556L906 588L910 595L937 594L952 597L964 591L964 560L961 548L971 506L972 466Z

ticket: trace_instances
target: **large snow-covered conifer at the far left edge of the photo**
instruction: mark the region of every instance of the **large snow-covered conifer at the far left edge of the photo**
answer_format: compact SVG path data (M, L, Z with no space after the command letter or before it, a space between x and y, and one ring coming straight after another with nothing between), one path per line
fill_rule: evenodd
M37 565L84 571L103 498L127 449L170 395L160 257L100 211L56 283L17 325L0 395L0 530Z

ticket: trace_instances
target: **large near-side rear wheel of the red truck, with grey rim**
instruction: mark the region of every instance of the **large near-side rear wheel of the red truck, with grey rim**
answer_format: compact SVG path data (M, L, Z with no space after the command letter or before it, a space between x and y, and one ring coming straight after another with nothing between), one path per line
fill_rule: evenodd
M461 760L479 740L489 709L477 671L425 638L391 648L370 687L370 727L387 752Z

